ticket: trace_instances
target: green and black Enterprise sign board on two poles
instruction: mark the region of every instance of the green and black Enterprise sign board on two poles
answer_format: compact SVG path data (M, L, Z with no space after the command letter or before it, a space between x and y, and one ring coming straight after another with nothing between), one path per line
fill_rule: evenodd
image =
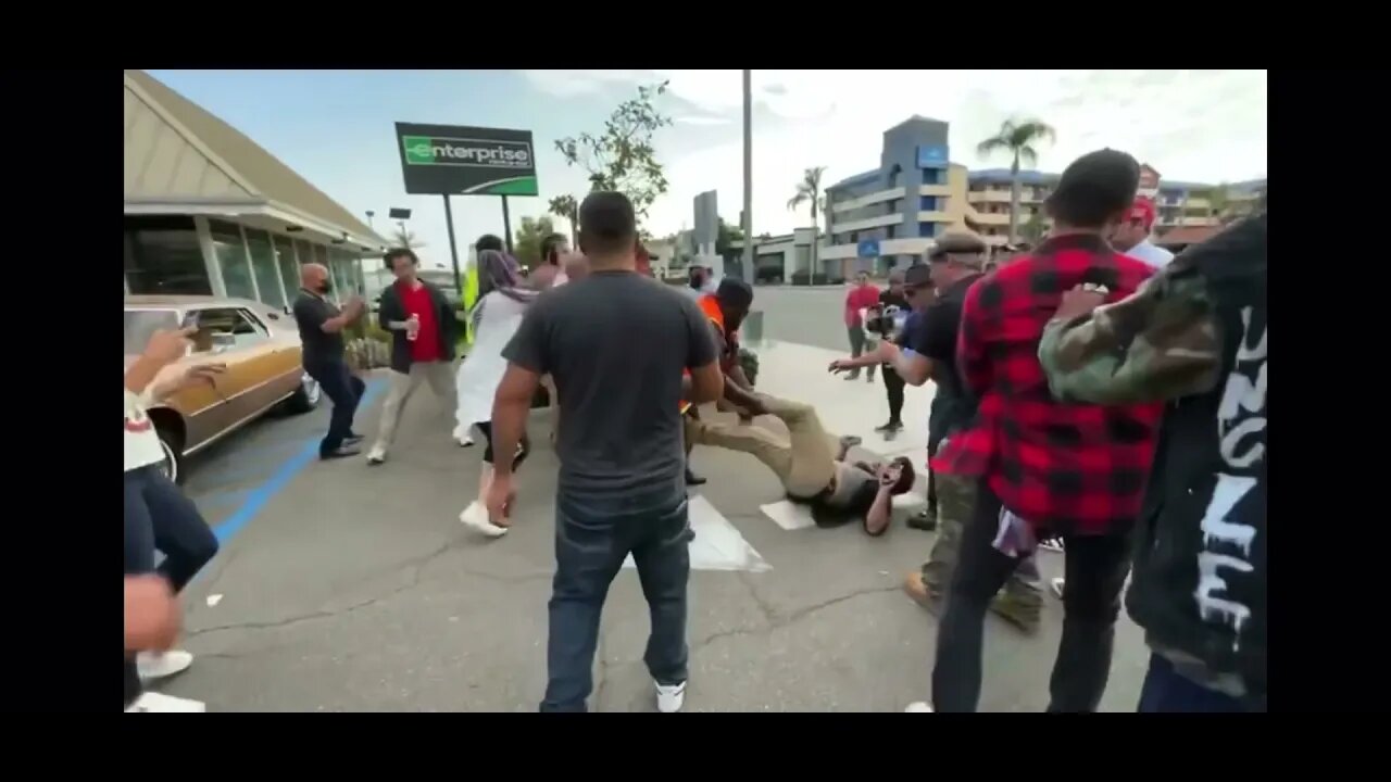
M396 122L410 195L537 195L531 131Z

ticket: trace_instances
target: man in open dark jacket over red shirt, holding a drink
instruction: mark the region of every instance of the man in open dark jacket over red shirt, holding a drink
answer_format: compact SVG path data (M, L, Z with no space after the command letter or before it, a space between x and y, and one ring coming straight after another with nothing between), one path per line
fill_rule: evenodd
M424 380L453 415L453 345L459 321L444 292L421 280L420 260L409 248L389 250L383 263L396 282L381 292L377 323L391 333L391 390L381 406L377 442L367 454L369 465L387 461L396 423L406 401Z

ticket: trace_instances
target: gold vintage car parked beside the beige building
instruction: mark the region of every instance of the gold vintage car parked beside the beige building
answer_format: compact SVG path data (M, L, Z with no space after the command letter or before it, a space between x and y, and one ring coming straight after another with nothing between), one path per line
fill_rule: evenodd
M299 330L285 310L248 299L217 296L127 296L125 366L131 366L157 328L196 323L184 362L216 360L227 373L211 387L184 390L150 409L167 455L171 480L184 477L184 459L267 410L305 413L319 405L320 388L305 373Z

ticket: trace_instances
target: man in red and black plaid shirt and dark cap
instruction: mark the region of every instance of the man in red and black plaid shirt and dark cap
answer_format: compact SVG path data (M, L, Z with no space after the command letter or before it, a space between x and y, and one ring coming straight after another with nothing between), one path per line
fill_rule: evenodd
M1132 294L1146 264L1117 253L1109 231L1128 214L1139 164L1123 152L1082 156L1045 207L1050 237L967 294L957 360L979 399L975 424L943 442L932 468L981 480L938 635L938 711L974 711L990 598L1040 537L1067 547L1063 640L1050 711L1093 711L1106 690L1128 534L1139 513L1159 424L1157 405L1099 406L1053 399L1038 360L1043 326L1066 291Z

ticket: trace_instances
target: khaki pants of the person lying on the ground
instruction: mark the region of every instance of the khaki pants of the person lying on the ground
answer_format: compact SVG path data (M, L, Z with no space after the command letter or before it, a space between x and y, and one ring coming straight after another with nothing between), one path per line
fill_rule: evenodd
M811 498L830 486L836 455L811 405L755 394L787 424L787 440L750 423L704 423L686 417L686 441L740 451L768 465L787 494Z

